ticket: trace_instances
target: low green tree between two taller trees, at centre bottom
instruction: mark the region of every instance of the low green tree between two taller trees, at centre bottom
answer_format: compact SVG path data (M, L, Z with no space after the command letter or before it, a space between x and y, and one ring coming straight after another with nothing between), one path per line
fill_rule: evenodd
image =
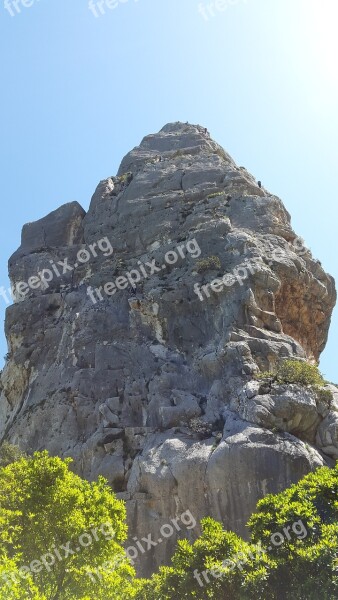
M178 542L170 567L161 567L151 580L141 582L139 600L265 597L270 566L266 553L235 533L224 531L221 523L209 517L201 525L202 535L194 544Z

